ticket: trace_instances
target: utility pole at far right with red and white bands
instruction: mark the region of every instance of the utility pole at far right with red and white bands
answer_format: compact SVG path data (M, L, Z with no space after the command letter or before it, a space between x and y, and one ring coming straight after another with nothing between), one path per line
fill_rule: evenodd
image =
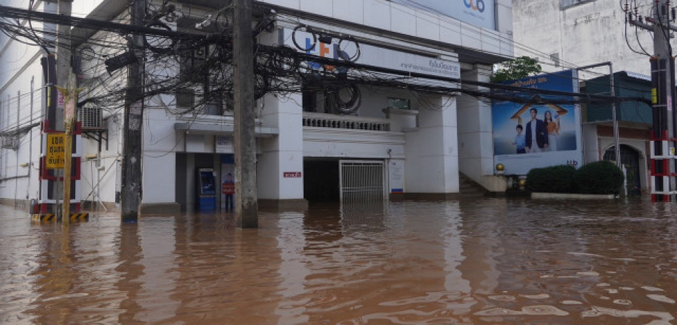
M651 200L671 201L675 184L675 61L670 46L669 0L655 0L653 17L633 18L627 4L629 22L654 32L654 55L651 56L651 104L653 128L651 135Z

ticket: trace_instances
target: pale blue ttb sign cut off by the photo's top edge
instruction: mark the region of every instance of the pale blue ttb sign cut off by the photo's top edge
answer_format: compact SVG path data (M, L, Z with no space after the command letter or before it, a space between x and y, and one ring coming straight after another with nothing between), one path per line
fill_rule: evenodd
M496 30L495 0L391 0L404 6L444 14L471 25Z

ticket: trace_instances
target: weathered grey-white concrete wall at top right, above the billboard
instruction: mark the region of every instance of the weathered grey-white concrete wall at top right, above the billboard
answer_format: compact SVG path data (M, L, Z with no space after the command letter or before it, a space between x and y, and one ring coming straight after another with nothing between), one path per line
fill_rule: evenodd
M538 56L544 70L561 70L552 66L549 55L558 53L562 66L587 66L611 61L614 70L651 75L649 57L638 55L627 46L625 17L616 0L596 0L560 10L560 1L513 0L515 55ZM640 1L640 13L649 14ZM635 28L629 26L629 42L635 50ZM639 34L647 52L653 52L648 32ZM527 49L529 47L530 49ZM535 53L538 52L538 53ZM607 67L596 72L608 73ZM587 77L582 75L582 77ZM595 76L596 77L596 76Z

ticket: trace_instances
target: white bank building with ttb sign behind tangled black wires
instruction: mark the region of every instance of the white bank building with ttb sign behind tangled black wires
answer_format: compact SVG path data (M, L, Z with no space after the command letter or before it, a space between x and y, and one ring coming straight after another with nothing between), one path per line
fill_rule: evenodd
M99 2L75 0L73 12L128 21L128 3ZM151 12L161 8L162 1L149 2ZM225 7L220 2L173 3L176 16L163 17L161 23L179 31L188 25L194 29L196 21L206 22L204 26L218 24L216 17ZM37 3L36 10L55 11L53 3ZM26 8L28 1L14 0L8 5ZM488 81L493 64L513 56L508 0L444 5L424 0L266 0L254 5L255 12L275 17L272 28L257 37L259 43L294 48L290 39L311 35L293 33L304 24L313 26L316 36L350 35L360 44L356 63L376 68L435 75L433 71L440 72L442 67L453 70L447 71L451 73L448 77ZM260 15L255 17L255 21L260 19ZM34 28L41 26L34 24ZM122 97L101 100L99 96L115 93L126 84L124 68L108 72L105 65L106 59L126 50L122 46L126 41L113 32L88 36L75 51L82 62L80 85L86 88L80 101L97 100L82 106L80 117L95 121L87 126L97 128L84 129L78 197L110 207L120 190L124 101ZM146 40L155 46L163 41ZM320 45L307 52L331 56L331 45L316 44ZM39 64L43 52L4 35L0 51L0 64L8 67L0 72L1 126L16 130L44 116L45 81ZM170 79L182 73L177 63L180 58L161 57L152 51L146 55L147 75ZM371 186L375 196L449 197L459 193L460 173L489 190L503 190L502 179L493 176L490 106L451 91L456 83L419 77L404 79L404 84L415 85L417 90L392 83L359 83L361 104L344 115L331 110L335 99L326 99L331 94L322 91L270 92L259 99L255 108L257 193L262 204L297 206L306 199L338 199L350 195L354 188L369 191L366 186ZM420 91L423 85L451 90L429 93ZM32 100L26 94L33 94ZM142 213L192 210L200 205L199 168L210 168L217 184L233 168L232 108L227 103L192 107L186 102L199 99L184 95L172 90L144 101ZM96 125L98 114L103 117L100 128ZM30 128L18 146L3 146L0 197L5 203L39 197L40 157L39 127ZM216 196L218 203L223 203L222 199Z

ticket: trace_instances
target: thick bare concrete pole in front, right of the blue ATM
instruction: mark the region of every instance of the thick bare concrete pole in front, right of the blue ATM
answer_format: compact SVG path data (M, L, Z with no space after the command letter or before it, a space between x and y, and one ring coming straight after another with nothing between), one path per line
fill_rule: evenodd
M241 228L257 228L252 1L234 3L235 221Z

